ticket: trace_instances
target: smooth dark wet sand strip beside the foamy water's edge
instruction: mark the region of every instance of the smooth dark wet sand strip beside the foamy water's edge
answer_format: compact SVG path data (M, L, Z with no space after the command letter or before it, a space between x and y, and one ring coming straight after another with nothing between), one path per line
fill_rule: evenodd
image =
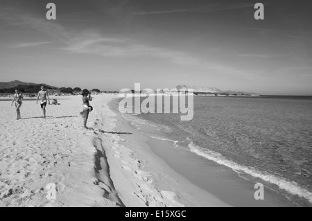
M112 108L111 105L111 109ZM116 112L116 109L114 111ZM256 182L246 182L231 168L220 166L214 161L207 161L207 159L189 150L175 148L175 145L173 145L171 141L163 141L147 136L139 132L127 119L121 116L120 118L118 122L121 128L127 128L133 133L139 134L136 136L136 139L129 137L128 140L132 143L130 146L139 148L139 152L146 152L146 150L142 148L145 146L146 149L149 150L146 153L147 155L153 155L153 159L159 158L163 164L165 163L168 168L173 170L173 174L177 173L182 176L185 183L190 182L193 188L195 186L196 188L200 188L201 194L203 194L202 191L205 191L205 193L209 193L210 196L212 195L212 198L210 198L214 200L210 201L222 202L223 206L294 206L290 202L287 202L286 199L281 200L282 197L274 193L274 191L271 191L270 188L265 188L266 199L264 201L254 200L254 192L256 191L254 189L254 184L256 184ZM148 156L146 156L146 158L147 157ZM198 172L197 175L196 172ZM214 178L211 179L211 177ZM180 182L180 188L185 188L183 186L184 182ZM184 197L187 196L184 195ZM205 203L209 204L209 200ZM193 202L193 206L194 205L198 204ZM216 203L214 206L220 205Z

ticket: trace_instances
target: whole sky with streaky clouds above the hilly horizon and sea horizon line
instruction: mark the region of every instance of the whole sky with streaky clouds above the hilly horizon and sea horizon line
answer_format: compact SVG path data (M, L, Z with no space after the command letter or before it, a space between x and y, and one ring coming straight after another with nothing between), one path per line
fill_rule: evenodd
M55 3L56 20L46 19ZM254 4L264 20L254 19ZM0 0L0 82L312 96L312 1Z

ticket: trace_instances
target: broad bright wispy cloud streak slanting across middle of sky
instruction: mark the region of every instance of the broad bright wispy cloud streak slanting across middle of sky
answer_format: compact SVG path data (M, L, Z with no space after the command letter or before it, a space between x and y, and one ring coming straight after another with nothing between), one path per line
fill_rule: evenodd
M105 35L85 34L70 39L68 46L63 48L70 53L85 53L106 56L109 58L158 58L180 67L193 67L207 71L208 75L231 76L251 80L250 73L236 70L227 64L196 58L196 56L169 48L148 46L132 39L105 37ZM193 73L190 73L193 74Z

